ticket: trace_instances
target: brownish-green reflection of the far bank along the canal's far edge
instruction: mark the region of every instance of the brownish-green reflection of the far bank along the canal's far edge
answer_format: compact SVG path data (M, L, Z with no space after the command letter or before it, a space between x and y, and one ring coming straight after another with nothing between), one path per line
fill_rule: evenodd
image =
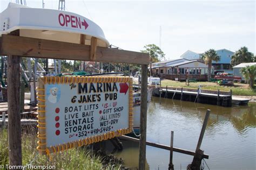
M207 128L209 129L218 126L219 123L225 124L226 121L231 122L240 134L245 133L247 128L256 127L256 103L226 108L216 105L184 102L166 98L161 98L160 105L158 105L158 102L158 97L152 98L149 114L154 114L157 112L158 107L161 107L163 109L171 110L172 114L186 116L191 121L193 121L193 119L200 119L200 121L203 122L206 110L210 109L211 116L207 124Z

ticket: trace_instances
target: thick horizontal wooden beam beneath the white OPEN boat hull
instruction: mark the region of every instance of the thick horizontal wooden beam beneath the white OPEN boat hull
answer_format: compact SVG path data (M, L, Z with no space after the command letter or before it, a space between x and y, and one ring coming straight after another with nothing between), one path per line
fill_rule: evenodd
M0 55L19 55L36 58L149 64L146 53L97 47L97 59L90 60L90 46L28 37L2 35Z

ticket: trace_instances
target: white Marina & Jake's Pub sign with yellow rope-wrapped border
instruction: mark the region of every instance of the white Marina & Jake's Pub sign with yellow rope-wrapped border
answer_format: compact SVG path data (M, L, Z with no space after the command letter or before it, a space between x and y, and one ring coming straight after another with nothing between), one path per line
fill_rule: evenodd
M38 150L49 154L130 133L129 77L42 77L38 87Z

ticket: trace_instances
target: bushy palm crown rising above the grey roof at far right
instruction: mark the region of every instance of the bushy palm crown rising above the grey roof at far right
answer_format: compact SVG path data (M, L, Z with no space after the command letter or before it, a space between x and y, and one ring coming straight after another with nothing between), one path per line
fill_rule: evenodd
M254 62L254 59L253 53L248 52L247 47L241 47L232 55L231 65L236 66L243 62Z

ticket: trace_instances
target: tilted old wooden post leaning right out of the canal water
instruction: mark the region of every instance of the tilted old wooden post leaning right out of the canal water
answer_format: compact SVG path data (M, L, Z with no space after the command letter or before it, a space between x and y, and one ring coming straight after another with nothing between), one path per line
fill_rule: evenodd
M209 109L206 111L204 123L203 123L202 129L201 129L201 132L200 132L198 143L197 143L196 154L194 155L192 164L188 165L188 167L190 167L190 169L198 169L198 170L200 169L201 160L203 159L203 155L204 155L204 151L200 150L200 147L201 147L201 143L203 141L208 118L210 117L210 112L211 112L211 110L209 110Z

